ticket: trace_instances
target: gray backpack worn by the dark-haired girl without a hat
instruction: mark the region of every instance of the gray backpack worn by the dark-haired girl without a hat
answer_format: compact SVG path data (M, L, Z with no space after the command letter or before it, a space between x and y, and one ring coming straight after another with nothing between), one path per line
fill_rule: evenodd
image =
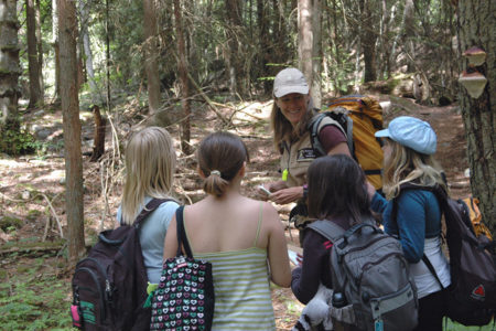
M367 331L417 327L417 287L399 241L371 222L345 231L320 220L309 227L333 243L333 321Z

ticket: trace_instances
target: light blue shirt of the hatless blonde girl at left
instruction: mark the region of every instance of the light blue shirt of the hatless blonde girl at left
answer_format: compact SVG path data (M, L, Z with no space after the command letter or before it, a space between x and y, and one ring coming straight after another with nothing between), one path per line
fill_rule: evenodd
M144 199L149 203L150 196ZM162 203L144 220L140 231L140 244L143 253L144 267L147 268L148 281L159 284L162 273L163 244L165 234L171 224L172 216L179 204L174 201ZM117 211L117 220L120 223L121 207Z

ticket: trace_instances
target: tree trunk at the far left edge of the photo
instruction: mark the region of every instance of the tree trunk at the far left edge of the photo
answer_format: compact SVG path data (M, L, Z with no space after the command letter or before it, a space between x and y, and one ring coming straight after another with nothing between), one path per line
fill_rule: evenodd
M15 0L0 0L0 134L19 131L19 22ZM3 136L3 135L2 135Z

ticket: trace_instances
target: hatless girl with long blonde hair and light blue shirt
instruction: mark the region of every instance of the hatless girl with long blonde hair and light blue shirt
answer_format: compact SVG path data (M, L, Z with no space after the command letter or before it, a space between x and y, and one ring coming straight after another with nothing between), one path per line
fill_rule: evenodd
M148 127L131 136L126 147L126 183L117 212L119 224L132 224L152 199L168 199L140 227L148 279L158 284L162 271L165 233L179 204L172 197L175 150L169 132Z

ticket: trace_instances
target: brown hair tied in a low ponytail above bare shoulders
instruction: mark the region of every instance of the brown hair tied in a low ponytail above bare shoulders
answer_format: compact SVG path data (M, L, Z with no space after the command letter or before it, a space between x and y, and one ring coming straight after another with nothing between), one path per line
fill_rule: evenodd
M225 131L211 134L203 139L196 156L200 170L205 175L203 190L216 196L224 194L242 164L249 161L248 149L242 140Z

